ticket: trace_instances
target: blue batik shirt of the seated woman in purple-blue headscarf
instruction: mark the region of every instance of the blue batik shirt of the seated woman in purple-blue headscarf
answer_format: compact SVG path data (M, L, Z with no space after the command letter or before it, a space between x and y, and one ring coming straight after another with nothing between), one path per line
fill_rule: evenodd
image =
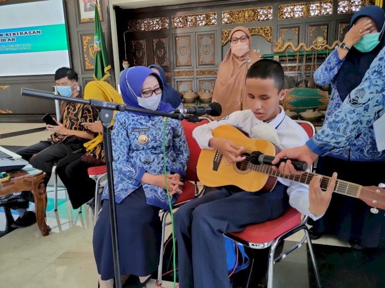
M115 114L111 137L117 203L142 186L148 204L169 209L166 190L140 182L145 172L163 174L164 121L165 118L159 116L143 116L130 112ZM178 173L184 178L190 152L179 120L167 120L165 149L167 174ZM171 197L171 204L175 203L177 197L176 194ZM107 186L102 199L108 199Z

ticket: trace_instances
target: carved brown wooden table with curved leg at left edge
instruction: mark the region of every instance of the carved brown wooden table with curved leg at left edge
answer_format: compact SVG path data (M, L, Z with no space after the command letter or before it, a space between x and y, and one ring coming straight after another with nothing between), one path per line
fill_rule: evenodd
M44 172L25 168L11 173L11 179L3 182L0 187L0 196L22 191L31 191L35 200L36 221L43 236L47 236L51 228L46 224L47 193L43 184Z

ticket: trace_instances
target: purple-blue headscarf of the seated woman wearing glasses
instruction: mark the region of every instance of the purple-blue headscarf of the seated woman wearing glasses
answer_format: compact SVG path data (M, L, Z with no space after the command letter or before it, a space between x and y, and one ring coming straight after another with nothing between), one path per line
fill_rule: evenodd
M160 87L163 87L163 81L159 75L153 72L151 69L144 66L135 66L127 68L123 71L122 76L120 77L120 90L122 91L122 98L124 104L134 108L142 108L138 104L138 98L142 96L142 87L143 83L149 75L157 77ZM163 98L163 97L162 97ZM158 109L159 112L171 112L174 111L174 108L170 104L166 104L163 101L160 102ZM146 113L131 112L137 115L147 115Z

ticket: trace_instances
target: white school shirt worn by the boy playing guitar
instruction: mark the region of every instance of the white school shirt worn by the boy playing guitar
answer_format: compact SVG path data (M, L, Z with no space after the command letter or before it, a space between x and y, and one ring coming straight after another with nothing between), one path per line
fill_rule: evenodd
M293 119L285 116L283 108L280 106L279 113L273 120L265 122L265 124L274 127L278 134L280 149L299 147L305 144L309 139L307 133ZM236 111L224 117L221 120L213 121L208 124L198 126L192 131L192 137L198 142L201 149L213 149L208 146L208 142L213 138L213 131L221 125L234 126L247 134L251 134L252 128L255 125L262 123L258 120L252 110ZM305 215L309 215L314 220L322 217L322 215L313 215L309 211L309 186L302 183L297 183L283 178L278 178L278 181L287 186L287 195L289 196L290 205Z

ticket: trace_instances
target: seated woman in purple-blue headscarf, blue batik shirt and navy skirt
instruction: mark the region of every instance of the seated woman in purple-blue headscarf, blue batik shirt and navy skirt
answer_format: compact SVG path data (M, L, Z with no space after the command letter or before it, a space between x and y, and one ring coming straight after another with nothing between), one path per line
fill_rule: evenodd
M171 112L161 101L163 81L149 68L126 69L120 78L127 106ZM163 174L164 117L137 112L117 112L112 131L113 177L121 275L137 275L147 282L157 270L161 239L160 209L169 209ZM187 141L179 120L166 125L167 187L171 203L182 192L189 158ZM93 232L93 250L100 287L113 286L113 260L109 220L108 188Z

